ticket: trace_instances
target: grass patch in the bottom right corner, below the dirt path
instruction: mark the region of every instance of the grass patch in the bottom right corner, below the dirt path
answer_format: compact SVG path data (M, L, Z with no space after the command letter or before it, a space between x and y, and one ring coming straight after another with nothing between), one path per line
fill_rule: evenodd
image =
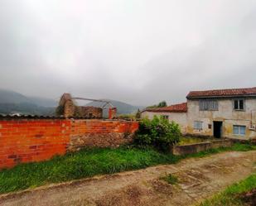
M243 206L247 205L243 199L244 193L256 189L256 174L250 175L239 183L232 184L223 192L216 194L211 199L206 199L200 206ZM248 205L255 205L250 203Z

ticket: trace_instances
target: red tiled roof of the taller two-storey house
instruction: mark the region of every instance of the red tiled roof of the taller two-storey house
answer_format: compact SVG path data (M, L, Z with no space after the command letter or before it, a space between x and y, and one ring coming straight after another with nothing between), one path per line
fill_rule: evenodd
M256 96L256 87L244 89L214 89L205 91L191 91L186 98L221 98L221 97L241 97Z

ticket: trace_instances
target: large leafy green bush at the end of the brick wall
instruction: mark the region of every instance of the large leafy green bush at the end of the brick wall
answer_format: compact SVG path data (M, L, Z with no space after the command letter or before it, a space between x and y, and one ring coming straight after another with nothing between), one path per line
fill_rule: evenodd
M134 144L139 147L154 146L161 151L167 151L170 146L180 141L181 130L176 122L155 116L152 120L143 119L139 123Z

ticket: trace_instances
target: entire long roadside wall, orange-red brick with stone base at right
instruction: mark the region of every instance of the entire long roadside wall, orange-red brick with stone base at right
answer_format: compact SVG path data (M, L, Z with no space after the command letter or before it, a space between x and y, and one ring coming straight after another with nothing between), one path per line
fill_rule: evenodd
M0 169L41 161L83 146L118 146L138 122L70 119L0 120Z

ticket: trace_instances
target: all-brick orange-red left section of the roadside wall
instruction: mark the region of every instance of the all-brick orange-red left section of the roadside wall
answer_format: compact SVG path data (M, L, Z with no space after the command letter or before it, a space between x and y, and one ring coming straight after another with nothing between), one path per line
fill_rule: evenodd
M0 168L65 154L69 142L67 120L0 121Z

